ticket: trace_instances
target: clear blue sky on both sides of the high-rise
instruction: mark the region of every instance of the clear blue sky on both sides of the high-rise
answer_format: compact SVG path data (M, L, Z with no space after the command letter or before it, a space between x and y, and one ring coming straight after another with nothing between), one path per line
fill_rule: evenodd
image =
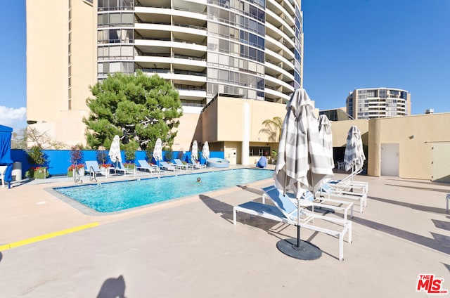
M302 11L304 89L316 108L391 87L411 93L412 115L450 112L450 0L302 0ZM25 127L25 0L9 2L0 26L0 124Z

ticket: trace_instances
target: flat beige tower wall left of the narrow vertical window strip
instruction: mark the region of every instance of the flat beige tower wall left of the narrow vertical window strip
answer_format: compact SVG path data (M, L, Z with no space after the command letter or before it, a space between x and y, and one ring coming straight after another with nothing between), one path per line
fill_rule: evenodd
M27 120L68 108L68 1L27 0Z

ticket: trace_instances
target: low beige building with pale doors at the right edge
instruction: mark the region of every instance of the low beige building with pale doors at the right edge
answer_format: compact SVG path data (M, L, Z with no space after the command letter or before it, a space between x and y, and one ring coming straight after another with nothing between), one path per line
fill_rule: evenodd
M450 113L332 122L333 147L345 148L353 125L367 146L369 176L450 182Z

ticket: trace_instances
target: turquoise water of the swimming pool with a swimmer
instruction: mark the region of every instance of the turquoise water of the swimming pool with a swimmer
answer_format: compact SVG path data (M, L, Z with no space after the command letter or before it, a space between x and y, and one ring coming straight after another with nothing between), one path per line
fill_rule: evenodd
M269 179L274 171L234 169L113 183L54 188L98 212L115 212ZM200 183L197 178L200 177Z

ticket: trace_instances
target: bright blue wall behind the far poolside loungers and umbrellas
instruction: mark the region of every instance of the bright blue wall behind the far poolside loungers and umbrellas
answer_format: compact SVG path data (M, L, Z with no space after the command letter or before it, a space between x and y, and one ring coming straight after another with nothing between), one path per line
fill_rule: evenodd
M68 167L70 167L70 150L42 150L44 152L44 156L48 163L46 167L49 169L49 173L51 175L67 175ZM97 151L96 150L82 150L84 160L96 160ZM108 154L108 150L105 151ZM186 153L174 151L173 157L178 158L181 155L181 160L188 161L191 159L191 151L186 151ZM200 152L201 155L201 152ZM165 159L165 152L162 152L162 157ZM220 157L224 158L223 152L211 152L210 157ZM22 176L25 177L25 171L33 167L34 164L30 164L27 158L27 152L22 149L12 149L11 150L11 160L13 162L22 162ZM122 161L125 160L124 151L122 151ZM136 159L134 163L137 164L138 160L146 160L146 152L145 151L136 151ZM166 160L166 159L165 159ZM111 161L108 157L108 163ZM153 160L154 162L154 160ZM205 163L205 159L200 157L200 162Z

